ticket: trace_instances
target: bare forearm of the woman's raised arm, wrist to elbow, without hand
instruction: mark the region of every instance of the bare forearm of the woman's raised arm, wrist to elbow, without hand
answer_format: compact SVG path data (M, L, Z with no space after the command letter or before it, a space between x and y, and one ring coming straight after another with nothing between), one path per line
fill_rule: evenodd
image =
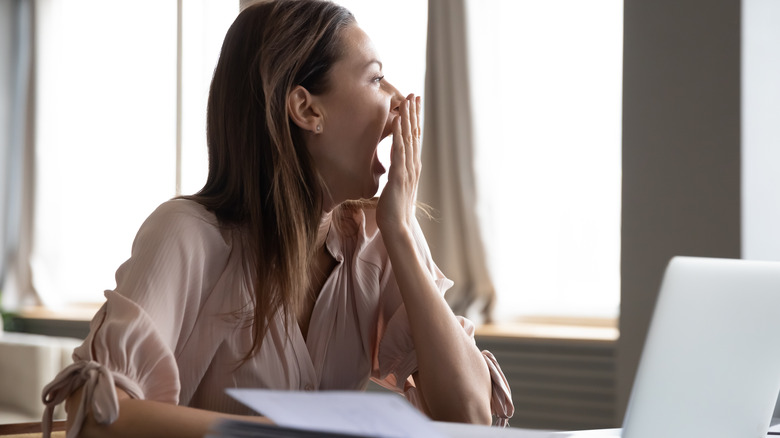
M430 273L420 261L412 232L385 236L411 326L418 362L418 390L435 420L490 424L490 374Z

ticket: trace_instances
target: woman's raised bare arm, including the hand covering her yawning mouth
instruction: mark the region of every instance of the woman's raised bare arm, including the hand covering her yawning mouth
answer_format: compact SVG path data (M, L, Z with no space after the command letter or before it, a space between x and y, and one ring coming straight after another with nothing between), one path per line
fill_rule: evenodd
M485 360L439 294L413 236L420 107L420 98L410 96L394 121L392 161L377 224L409 317L418 363L415 383L431 417L490 424L492 388Z

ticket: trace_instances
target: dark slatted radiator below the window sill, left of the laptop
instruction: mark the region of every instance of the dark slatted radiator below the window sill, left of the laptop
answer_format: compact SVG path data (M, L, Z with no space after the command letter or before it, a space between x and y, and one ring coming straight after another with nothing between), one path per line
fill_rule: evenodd
M614 340L477 336L512 389L513 427L552 430L615 426Z

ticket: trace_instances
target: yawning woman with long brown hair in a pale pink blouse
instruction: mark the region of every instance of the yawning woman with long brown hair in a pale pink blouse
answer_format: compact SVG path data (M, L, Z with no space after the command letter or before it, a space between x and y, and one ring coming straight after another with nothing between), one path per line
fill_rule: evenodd
M44 389L68 436L203 436L251 412L229 387L402 393L431 418L504 424L493 356L442 294L414 217L420 99L382 76L345 9L263 2L228 31L209 176L141 226L75 363ZM377 145L392 135L387 185ZM362 200L362 201L361 201Z

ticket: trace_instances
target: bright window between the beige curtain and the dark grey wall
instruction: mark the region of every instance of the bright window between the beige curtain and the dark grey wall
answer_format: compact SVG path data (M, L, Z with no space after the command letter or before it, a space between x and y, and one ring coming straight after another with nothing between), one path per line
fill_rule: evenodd
M497 319L617 316L623 3L468 2Z

